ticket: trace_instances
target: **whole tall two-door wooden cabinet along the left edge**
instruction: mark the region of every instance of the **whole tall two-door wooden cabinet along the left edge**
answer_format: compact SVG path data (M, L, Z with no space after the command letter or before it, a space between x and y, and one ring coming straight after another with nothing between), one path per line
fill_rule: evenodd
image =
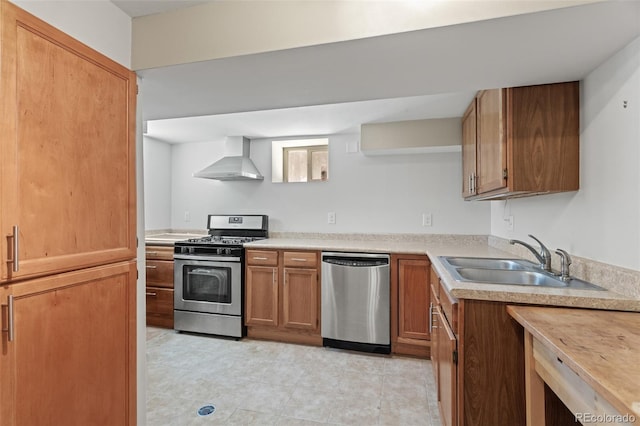
M135 74L0 0L0 424L135 424Z

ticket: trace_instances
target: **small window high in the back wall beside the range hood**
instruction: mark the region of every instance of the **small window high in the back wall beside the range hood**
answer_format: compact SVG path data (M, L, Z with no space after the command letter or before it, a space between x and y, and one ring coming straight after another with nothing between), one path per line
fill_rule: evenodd
M329 139L273 141L273 182L323 182L329 179Z

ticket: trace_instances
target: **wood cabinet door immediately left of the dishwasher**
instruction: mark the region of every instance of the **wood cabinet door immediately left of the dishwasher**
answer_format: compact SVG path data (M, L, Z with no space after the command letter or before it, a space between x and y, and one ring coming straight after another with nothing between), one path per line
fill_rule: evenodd
M317 330L319 326L318 270L284 268L282 282L282 326Z

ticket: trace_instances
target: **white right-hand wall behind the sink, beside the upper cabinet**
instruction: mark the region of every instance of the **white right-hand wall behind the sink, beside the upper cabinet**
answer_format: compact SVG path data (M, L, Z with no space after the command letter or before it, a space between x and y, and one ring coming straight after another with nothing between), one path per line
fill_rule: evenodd
M581 106L580 190L494 201L491 233L640 270L640 38L584 79Z

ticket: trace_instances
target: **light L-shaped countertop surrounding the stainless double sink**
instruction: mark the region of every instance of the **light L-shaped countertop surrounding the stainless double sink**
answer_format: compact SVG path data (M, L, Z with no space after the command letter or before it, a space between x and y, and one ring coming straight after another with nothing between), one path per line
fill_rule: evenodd
M571 306L640 312L640 299L610 290L576 290L504 284L458 282L451 277L438 256L516 258L511 253L491 247L486 238L469 236L433 236L422 241L404 238L346 240L322 238L269 238L245 244L247 249L322 250L426 254L453 297L536 305ZM605 283L597 283L607 288Z

